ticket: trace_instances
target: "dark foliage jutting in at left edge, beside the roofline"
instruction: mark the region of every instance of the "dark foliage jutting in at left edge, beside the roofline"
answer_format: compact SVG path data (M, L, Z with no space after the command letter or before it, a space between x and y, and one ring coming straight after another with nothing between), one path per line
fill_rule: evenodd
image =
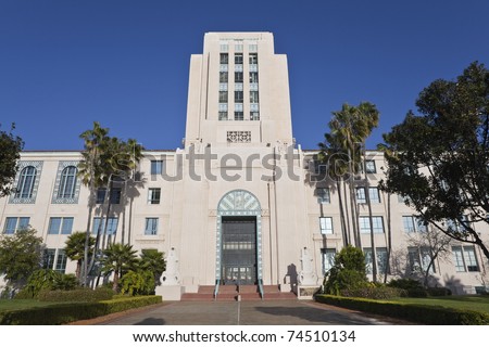
M0 197L12 191L21 151L24 147L22 139L12 133L14 129L15 125L12 124L10 132L0 131Z

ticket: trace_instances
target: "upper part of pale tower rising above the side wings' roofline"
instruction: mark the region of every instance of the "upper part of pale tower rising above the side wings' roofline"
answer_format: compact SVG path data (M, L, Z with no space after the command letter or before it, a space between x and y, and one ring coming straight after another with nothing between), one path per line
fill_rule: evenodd
M287 57L271 33L208 33L192 55L186 145L291 143Z

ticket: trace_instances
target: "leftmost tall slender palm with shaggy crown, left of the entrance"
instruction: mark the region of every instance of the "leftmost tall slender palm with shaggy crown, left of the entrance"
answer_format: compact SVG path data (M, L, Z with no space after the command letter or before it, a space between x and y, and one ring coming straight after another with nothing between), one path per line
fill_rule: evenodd
M89 189L88 197L88 220L87 230L85 235L85 250L84 250L84 285L88 285L88 272L89 272L89 243L90 243L90 223L93 213L93 206L96 205L97 189L103 185L104 172L102 170L103 160L102 154L105 143L109 139L109 129L100 127L98 121L93 121L93 129L84 131L79 137L85 141L84 152L82 153L83 159L78 164L78 176L82 179L84 185ZM93 257L90 260L93 264Z

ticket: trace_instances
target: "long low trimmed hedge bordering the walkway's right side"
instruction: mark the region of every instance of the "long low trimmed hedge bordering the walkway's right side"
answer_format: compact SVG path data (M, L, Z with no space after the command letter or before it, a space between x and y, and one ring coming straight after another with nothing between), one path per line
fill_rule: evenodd
M489 314L440 306L378 301L334 295L316 295L316 301L409 320L428 325L486 325Z

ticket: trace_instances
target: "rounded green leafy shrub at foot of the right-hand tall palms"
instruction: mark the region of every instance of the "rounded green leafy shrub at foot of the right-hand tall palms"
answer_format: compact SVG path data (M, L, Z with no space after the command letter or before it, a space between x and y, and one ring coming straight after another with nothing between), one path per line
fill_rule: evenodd
M326 272L323 291L340 295L343 290L358 290L366 286L365 256L362 249L348 245L336 256L333 268Z

